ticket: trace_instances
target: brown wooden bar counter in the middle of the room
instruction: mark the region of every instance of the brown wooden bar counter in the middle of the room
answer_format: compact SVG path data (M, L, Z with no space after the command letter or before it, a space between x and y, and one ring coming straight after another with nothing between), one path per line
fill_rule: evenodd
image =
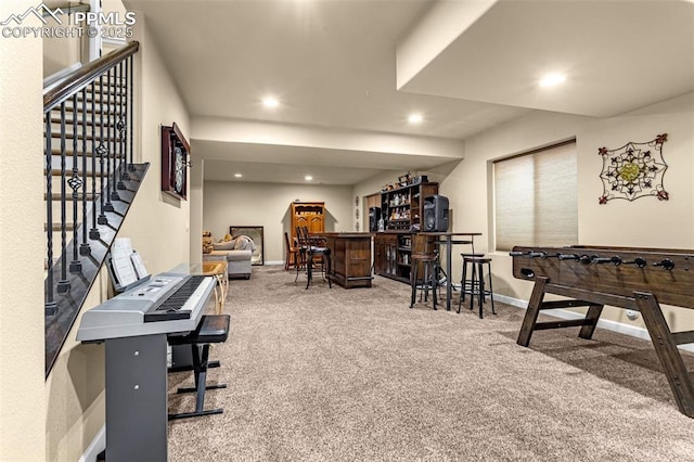
M345 288L371 287L371 233L320 233L331 252L330 278Z

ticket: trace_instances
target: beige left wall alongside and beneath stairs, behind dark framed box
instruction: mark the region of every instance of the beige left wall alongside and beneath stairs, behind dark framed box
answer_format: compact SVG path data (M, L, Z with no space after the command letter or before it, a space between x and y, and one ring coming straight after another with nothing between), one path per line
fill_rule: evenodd
M138 120L142 123L136 162L150 163L150 169L118 236L132 240L147 270L155 274L189 261L190 204L172 200L159 188L159 127L176 121L187 133L189 116L140 16L136 40L141 46L136 55L136 75L142 75L141 85L136 85L141 94L136 125ZM107 287L108 279L102 271L82 312L104 301ZM103 346L77 343L78 326L79 319L46 382L46 460L50 461L78 460L104 424Z

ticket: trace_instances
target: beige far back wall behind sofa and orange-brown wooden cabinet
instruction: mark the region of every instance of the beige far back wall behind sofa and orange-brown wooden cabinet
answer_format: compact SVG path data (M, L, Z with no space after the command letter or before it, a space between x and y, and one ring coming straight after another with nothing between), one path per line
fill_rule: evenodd
M203 229L216 241L230 226L264 227L265 261L284 262L284 231L290 230L290 204L325 203L325 231L354 231L351 187L207 181L204 187ZM201 236L202 238L202 236ZM198 241L202 242L202 241ZM202 245L201 245L202 253Z

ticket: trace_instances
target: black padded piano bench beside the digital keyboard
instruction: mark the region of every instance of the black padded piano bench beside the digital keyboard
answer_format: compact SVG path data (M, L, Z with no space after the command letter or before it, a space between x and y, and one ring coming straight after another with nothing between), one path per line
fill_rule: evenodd
M229 337L229 315L206 315L197 329L188 335L169 336L170 345L191 345L195 387L180 387L176 393L195 393L195 411L169 414L169 420L221 414L223 409L205 410L205 390L227 388L227 384L207 385L207 369L210 367L209 345L227 342ZM201 348L202 347L202 348ZM201 351L202 349L202 351Z

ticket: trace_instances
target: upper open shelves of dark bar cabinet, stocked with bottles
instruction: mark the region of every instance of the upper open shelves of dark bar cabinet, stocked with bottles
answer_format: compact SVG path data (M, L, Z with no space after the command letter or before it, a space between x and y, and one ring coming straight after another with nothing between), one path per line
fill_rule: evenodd
M381 216L384 229L423 231L424 197L438 194L438 183L421 182L381 193Z

